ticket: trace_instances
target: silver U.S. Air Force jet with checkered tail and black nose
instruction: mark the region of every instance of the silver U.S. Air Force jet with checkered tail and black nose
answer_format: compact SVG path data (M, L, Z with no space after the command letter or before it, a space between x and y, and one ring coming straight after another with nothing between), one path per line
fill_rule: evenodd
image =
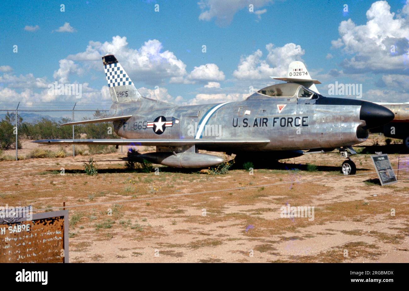
M103 56L102 61L112 97L109 116L65 125L113 122L116 134L123 139L36 143L155 146L156 152L133 158L179 168L205 168L223 162L199 150L236 154L235 160L240 162L272 162L306 151L337 148L346 158L342 172L351 175L356 171L351 146L365 141L371 128L394 117L389 109L375 103L324 97L315 88L317 80L311 78L303 83L307 87L284 80L289 83L265 87L243 101L179 106L141 96L114 55ZM295 77L309 76L306 69L292 69L297 69Z

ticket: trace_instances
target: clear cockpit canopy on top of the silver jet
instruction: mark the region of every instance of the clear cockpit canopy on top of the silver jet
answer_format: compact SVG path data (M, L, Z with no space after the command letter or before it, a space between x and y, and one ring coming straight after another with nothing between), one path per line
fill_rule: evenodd
M257 91L269 97L297 97L297 98L317 98L318 94L296 83L282 83L271 85Z

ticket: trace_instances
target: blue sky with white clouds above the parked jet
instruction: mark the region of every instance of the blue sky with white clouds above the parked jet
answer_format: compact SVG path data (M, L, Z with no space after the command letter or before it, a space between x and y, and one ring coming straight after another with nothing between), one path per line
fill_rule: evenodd
M142 95L179 104L242 100L293 60L323 95L337 81L362 84L366 100L409 101L403 0L6 0L0 11L0 101L78 101L47 94L58 81L81 83L80 102L108 102L108 53Z

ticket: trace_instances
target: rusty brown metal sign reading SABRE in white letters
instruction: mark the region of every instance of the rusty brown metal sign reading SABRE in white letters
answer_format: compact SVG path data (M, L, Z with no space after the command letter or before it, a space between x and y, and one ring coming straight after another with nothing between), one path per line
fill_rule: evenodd
M0 224L0 263L18 262L68 262L68 210Z

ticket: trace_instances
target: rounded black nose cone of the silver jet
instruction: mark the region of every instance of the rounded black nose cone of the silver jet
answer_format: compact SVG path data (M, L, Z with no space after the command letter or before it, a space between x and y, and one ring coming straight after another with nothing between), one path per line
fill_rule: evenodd
M362 127L365 130L387 124L395 118L395 114L388 108L368 101L362 103L359 116L366 123Z

